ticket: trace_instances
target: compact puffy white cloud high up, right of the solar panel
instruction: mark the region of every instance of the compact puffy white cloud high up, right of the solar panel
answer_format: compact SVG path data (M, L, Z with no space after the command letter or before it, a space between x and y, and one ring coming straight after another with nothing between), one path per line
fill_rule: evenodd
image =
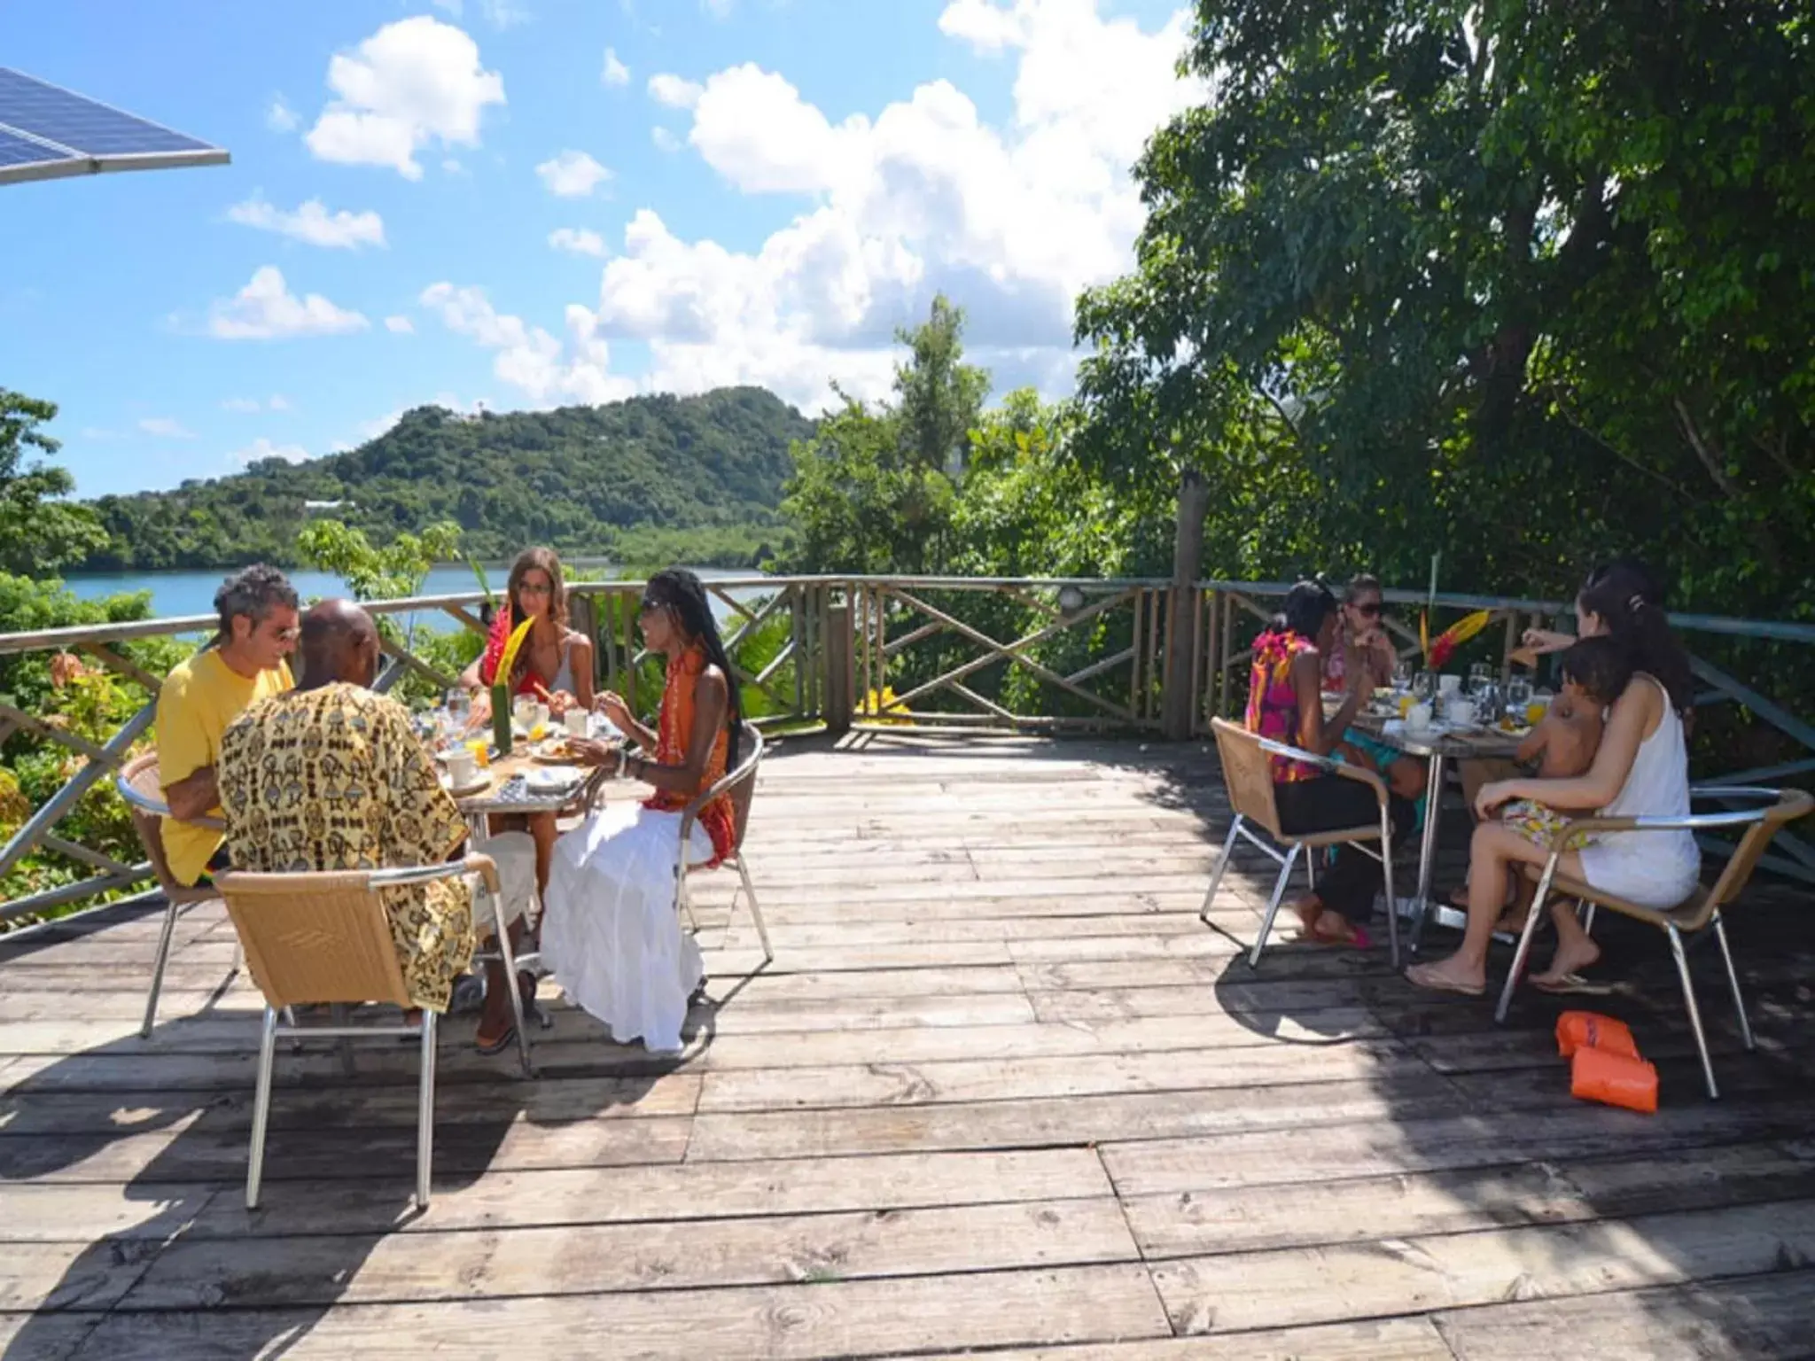
M505 82L479 65L465 31L428 15L387 24L329 62L329 103L305 138L309 151L345 165L390 165L421 180L416 152L479 145L479 116L505 102Z

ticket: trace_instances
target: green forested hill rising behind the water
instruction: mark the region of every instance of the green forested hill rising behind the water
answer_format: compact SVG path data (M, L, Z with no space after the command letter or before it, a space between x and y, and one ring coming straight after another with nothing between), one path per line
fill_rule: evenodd
M454 521L481 557L530 543L623 555L659 541L690 543L701 561L748 557L777 523L790 441L813 430L764 388L505 416L417 406L345 454L100 497L93 506L111 543L82 566L290 566L309 515L341 519L376 543Z

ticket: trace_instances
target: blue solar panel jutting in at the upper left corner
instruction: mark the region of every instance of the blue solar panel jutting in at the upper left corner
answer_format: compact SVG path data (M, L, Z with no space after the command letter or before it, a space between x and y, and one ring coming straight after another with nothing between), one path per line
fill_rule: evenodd
M0 183L225 163L207 142L0 67Z

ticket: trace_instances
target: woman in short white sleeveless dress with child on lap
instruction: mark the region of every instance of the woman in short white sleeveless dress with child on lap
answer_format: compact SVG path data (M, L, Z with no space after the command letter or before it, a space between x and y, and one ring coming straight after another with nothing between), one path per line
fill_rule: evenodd
M1499 918L1508 869L1543 866L1550 847L1492 818L1514 798L1530 798L1565 813L1606 817L1688 817L1690 762L1683 715L1693 704L1688 655L1650 599L1652 577L1619 563L1588 579L1575 599L1581 637L1610 635L1626 646L1634 677L1608 713L1601 748L1588 773L1574 780L1496 780L1476 795L1483 818L1468 849L1468 925L1461 949L1447 960L1407 969L1419 987L1479 996L1486 991L1486 951ZM1626 831L1594 838L1557 860L1557 869L1644 907L1675 907L1701 876L1701 851L1688 831ZM1579 991L1581 973L1601 958L1568 904L1554 902L1557 953L1535 987Z

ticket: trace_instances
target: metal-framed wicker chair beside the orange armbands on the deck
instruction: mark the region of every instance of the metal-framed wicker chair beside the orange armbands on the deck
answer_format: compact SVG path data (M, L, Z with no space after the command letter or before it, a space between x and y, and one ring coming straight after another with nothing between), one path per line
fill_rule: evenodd
M1702 1078L1708 1083L1708 1096L1710 1100L1719 1100L1721 1089L1713 1080L1713 1060L1708 1058L1708 1036L1702 1033L1701 1007L1695 1005L1695 984L1690 980L1690 962L1683 949L1683 938L1704 929L1713 931L1715 940L1721 944L1721 960L1726 964L1726 982L1733 991L1733 1011L1739 1014L1741 1040L1746 1049L1755 1049L1751 1022L1746 1016L1746 998L1739 989L1739 971L1733 967L1733 951L1726 944L1726 924L1721 920L1721 911L1724 907L1732 907L1733 900L1739 898L1741 891L1751 878L1751 871L1757 869L1766 846L1770 846L1771 837L1777 835L1777 829L1815 808L1815 798L1802 789L1708 786L1690 789L1690 800L1692 804L1753 800L1761 806L1728 813L1695 813L1683 818L1577 818L1566 829L1557 833L1557 838L1550 847L1550 858L1545 862L1543 869L1537 866L1525 867L1526 876L1537 880L1537 896L1532 900L1532 911L1525 918L1525 931L1519 935L1519 945L1512 956L1512 969L1506 971L1506 984L1501 987L1499 1005L1494 1009L1494 1020L1506 1020L1506 1009L1512 1005L1512 989L1517 985L1519 974L1525 973L1525 964L1532 953L1532 938L1537 935L1537 922L1545 916L1543 907L1548 904L1552 895L1575 898L1577 906L1584 907L1588 913L1595 907L1606 907L1621 916L1648 922L1663 931L1670 940L1670 955L1677 964L1677 978L1683 982L1683 1007L1688 1011L1690 1029L1695 1033L1695 1049L1701 1053ZM1664 911L1628 902L1606 893L1604 889L1597 889L1592 884L1570 878L1568 875L1557 871L1557 862L1563 858L1566 840L1572 833L1579 831L1639 833L1717 831L1735 827L1744 827L1746 831L1713 887L1697 886L1688 898Z

